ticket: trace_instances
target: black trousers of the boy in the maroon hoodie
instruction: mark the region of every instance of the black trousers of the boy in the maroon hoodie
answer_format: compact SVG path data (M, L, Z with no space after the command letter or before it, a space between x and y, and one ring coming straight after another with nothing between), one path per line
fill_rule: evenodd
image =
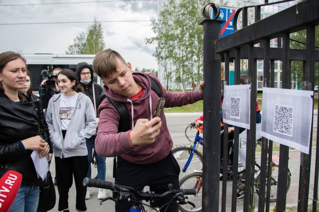
M118 167L115 173L115 183L119 185L131 186L138 191L142 191L145 186L150 186L150 190L156 194L167 191L167 185L173 184L173 189L179 189L179 166L173 154L170 152L162 160L152 164L134 164L118 157ZM159 200L161 207L171 201L172 196ZM132 202L116 203L116 212L129 212ZM165 211L166 207L164 207ZM178 204L171 203L166 212L178 212Z

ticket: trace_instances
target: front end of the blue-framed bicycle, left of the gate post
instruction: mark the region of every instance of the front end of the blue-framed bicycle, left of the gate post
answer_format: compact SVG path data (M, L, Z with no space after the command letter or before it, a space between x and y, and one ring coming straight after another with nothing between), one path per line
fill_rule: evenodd
M186 126L185 135L187 139L193 143L191 146L180 146L173 148L171 151L176 159L179 167L181 168L179 178L183 177L190 163L192 167L196 169L202 169L203 167L203 154L197 150L198 144L203 145L203 138L199 135L200 129L197 129L196 135L191 136L188 132L191 129L195 129L195 122L192 122ZM191 138L194 140L191 141Z

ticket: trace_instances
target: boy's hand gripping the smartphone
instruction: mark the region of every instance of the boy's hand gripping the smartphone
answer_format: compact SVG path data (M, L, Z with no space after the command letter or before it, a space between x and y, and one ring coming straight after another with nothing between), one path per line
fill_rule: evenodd
M155 117L150 121L145 118L138 119L130 134L131 144L138 146L154 143L155 138L160 135L160 126L160 117Z

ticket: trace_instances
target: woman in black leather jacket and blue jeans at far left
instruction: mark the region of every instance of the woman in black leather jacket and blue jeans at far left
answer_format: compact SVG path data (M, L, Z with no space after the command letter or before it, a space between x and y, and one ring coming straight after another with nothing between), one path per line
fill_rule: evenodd
M19 93L26 80L25 59L12 51L0 54L0 178L9 170L22 174L19 191L9 212L35 212L40 180L31 153L49 153L49 145L39 135L39 123L29 98Z

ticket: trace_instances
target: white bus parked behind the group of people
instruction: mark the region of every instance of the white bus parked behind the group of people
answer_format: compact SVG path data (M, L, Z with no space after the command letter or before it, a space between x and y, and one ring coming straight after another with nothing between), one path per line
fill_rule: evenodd
M76 70L76 65L86 62L92 66L95 55L72 55L72 54L22 54L26 59L27 70L31 75L31 83L34 94L38 94L43 80L42 70L51 72L55 68ZM94 73L94 82L101 85L100 78Z

